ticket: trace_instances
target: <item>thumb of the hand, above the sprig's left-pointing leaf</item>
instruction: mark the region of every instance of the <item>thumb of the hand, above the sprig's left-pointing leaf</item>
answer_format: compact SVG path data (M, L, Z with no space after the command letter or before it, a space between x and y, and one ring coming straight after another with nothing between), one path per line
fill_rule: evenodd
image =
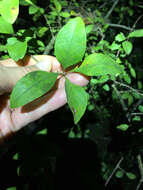
M51 69L52 61L50 59L45 59L31 66L5 67L0 64L0 94L11 92L16 82L29 72L37 70L50 72Z

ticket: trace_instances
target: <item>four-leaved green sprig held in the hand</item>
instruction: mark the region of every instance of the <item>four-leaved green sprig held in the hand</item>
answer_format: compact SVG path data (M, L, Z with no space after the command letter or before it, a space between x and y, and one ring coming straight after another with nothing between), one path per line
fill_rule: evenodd
M55 41L54 55L63 66L63 73L34 71L25 75L13 88L10 96L11 108L23 106L47 93L54 86L58 76L63 75L68 105L73 113L74 122L77 123L86 110L88 93L83 87L69 81L66 77L67 73L78 72L87 76L116 77L123 72L122 66L102 53L88 55L82 61L85 51L85 25L80 17L76 17L63 26ZM70 70L71 66L75 68Z

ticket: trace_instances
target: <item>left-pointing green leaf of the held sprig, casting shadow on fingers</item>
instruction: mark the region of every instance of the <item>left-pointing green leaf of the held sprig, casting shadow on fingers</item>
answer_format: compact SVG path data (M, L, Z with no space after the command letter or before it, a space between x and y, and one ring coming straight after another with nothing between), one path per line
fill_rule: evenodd
M56 82L58 74L46 71L30 72L21 78L10 96L11 108L28 104L48 92Z

